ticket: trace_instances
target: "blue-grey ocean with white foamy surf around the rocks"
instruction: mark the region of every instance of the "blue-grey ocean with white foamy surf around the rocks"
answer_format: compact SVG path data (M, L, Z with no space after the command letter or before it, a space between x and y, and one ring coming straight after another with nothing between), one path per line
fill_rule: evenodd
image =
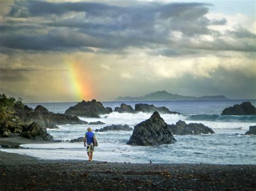
M167 124L179 120L186 123L203 123L210 127L212 135L174 135L177 142L160 146L131 146L126 142L132 131L95 132L99 146L95 148L93 159L108 162L132 163L207 163L207 164L256 164L256 136L245 135L249 126L256 125L256 116L220 116L223 109L256 100L225 101L153 101L153 102L102 102L104 107L120 107L121 103L131 105L148 103L157 107L165 106L170 111L182 115L160 114ZM76 103L28 103L31 108L38 104L49 111L64 113ZM152 114L119 114L112 112L101 118L79 117L87 122L102 121L104 125L59 125L59 129L48 129L55 140L62 142L49 144L26 144L24 149L5 149L1 151L30 155L40 159L78 159L87 160L83 143L70 143L74 138L83 137L90 126L93 131L112 124L127 124L132 128L148 119Z

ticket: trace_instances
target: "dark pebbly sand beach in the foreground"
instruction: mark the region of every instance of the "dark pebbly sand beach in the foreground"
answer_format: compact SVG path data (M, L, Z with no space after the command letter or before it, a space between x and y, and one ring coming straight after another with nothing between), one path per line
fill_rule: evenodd
M0 138L0 145L31 142ZM0 190L255 190L256 166L38 160L0 152L0 182Z

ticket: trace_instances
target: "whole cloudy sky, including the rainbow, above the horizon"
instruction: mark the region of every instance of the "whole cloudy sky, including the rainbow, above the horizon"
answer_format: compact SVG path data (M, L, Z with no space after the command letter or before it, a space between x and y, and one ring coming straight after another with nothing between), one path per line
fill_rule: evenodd
M256 98L255 1L1 1L0 93Z

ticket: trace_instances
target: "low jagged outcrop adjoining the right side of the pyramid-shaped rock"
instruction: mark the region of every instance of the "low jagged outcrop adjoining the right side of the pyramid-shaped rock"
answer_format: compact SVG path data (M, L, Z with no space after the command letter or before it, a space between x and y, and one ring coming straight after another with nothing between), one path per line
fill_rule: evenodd
M184 121L178 121L176 125L168 125L173 135L201 135L213 134L214 131L201 123L186 124Z

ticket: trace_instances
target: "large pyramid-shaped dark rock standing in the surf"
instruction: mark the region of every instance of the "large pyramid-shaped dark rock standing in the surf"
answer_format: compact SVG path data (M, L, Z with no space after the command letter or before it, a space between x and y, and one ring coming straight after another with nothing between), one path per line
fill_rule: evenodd
M155 111L153 115L136 126L127 144L140 146L154 146L171 144L175 141L171 129Z

